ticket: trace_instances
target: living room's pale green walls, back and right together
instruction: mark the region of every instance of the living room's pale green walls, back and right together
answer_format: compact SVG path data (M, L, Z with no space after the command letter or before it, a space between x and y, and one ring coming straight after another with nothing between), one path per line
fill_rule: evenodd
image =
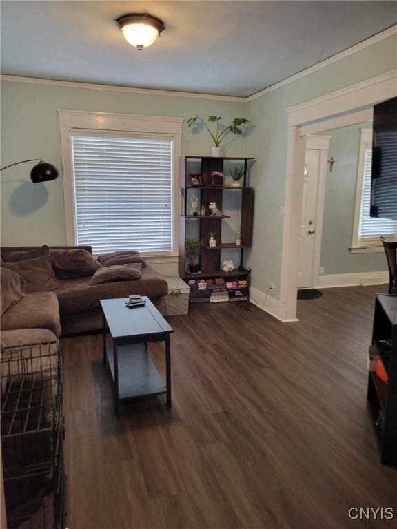
M232 138L227 154L256 157L251 178L256 188L254 246L247 252L248 264L253 270L253 286L266 291L270 282L274 282L278 298L287 108L396 68L396 46L396 37L389 37L250 103L4 81L1 83L2 165L43 156L61 168L58 108L184 118L197 112L202 116L218 114L225 121L235 116L250 118L254 125L252 134L245 139ZM209 152L210 145L209 136L193 135L185 125L183 154L203 154ZM62 180L32 185L28 173L28 166L19 166L1 175L2 244L63 244Z

